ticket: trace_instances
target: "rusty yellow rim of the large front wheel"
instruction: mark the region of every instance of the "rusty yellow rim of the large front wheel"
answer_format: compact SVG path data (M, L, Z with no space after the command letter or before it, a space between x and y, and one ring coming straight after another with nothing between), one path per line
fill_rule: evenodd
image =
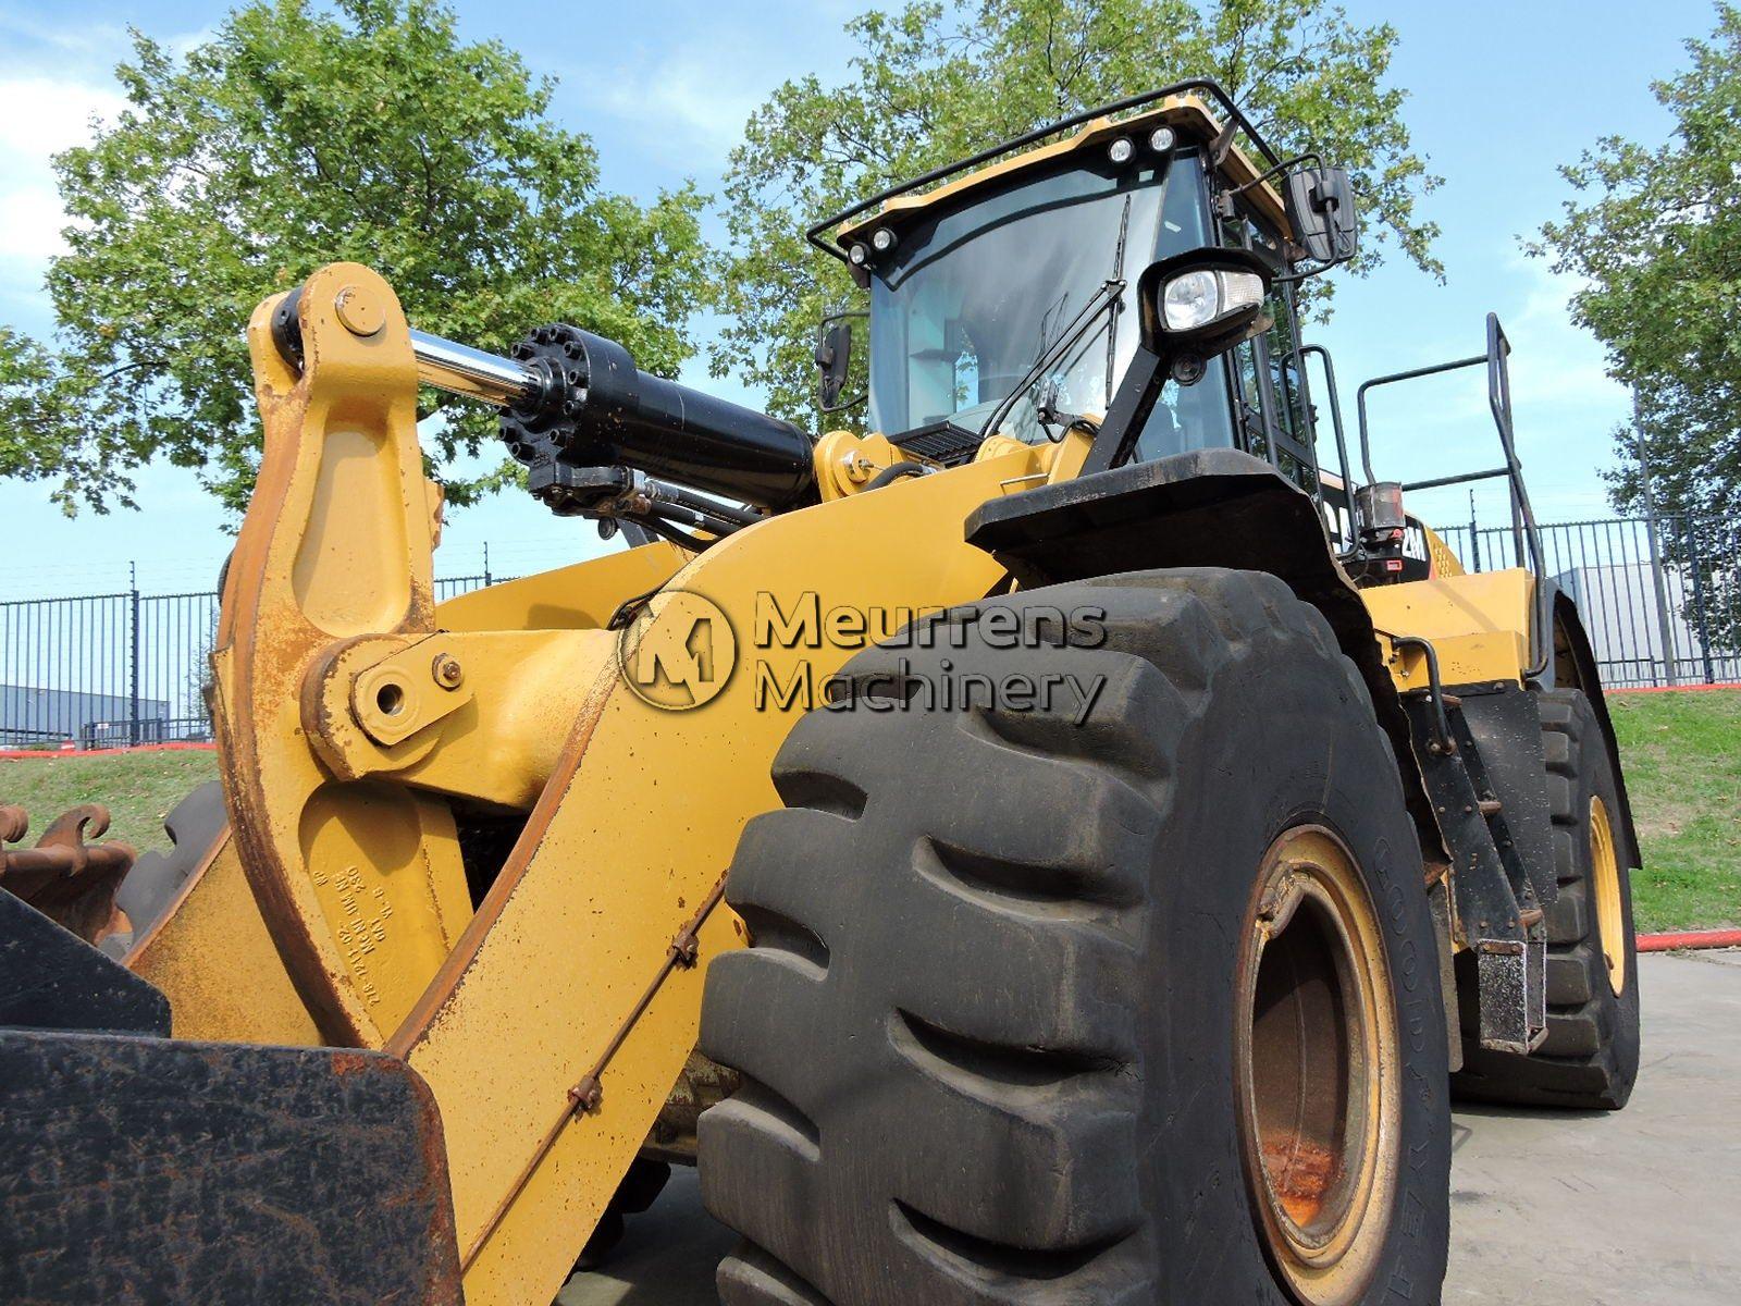
M1234 1010L1240 1142L1266 1252L1306 1306L1356 1301L1395 1205L1400 1052L1372 895L1321 825L1264 855Z

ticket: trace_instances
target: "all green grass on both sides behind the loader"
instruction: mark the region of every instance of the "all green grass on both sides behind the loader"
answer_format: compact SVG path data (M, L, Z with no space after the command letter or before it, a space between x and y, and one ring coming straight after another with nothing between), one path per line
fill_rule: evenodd
M1616 693L1644 871L1633 878L1640 930L1741 925L1741 690ZM75 803L106 803L111 836L167 848L164 815L216 775L211 752L139 752L0 761L0 801L37 832Z

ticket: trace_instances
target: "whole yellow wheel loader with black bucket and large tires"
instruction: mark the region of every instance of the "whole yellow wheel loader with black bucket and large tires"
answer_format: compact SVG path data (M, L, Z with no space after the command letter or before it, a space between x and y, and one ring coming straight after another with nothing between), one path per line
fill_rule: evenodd
M1431 1303L1452 1095L1624 1104L1638 843L1499 324L1466 575L1374 470L1421 373L1356 477L1299 338L1348 176L1213 84L810 237L862 432L357 265L259 306L221 792L85 939L0 895L0 1297L548 1303L698 1160L729 1306ZM420 383L630 547L437 603Z

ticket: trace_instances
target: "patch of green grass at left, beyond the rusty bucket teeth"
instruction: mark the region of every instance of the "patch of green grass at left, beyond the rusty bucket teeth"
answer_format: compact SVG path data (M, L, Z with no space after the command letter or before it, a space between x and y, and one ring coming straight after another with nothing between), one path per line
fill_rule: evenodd
M143 853L169 848L164 817L214 775L218 754L204 751L0 761L0 803L17 803L30 813L24 843L35 843L66 808L103 803L110 810L108 838L125 839Z

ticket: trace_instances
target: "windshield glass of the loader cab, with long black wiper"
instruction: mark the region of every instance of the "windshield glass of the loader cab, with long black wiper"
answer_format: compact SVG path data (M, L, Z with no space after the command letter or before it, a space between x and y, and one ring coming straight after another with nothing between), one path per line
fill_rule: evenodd
M998 430L1046 435L1039 401L1104 414L1137 348L1137 277L1156 258L1210 244L1194 155L1123 169L1072 162L902 232L870 279L870 423L900 434L949 420L977 432L1053 353ZM1106 310L1109 280L1125 282ZM1062 341L1083 327L1074 343ZM1168 383L1139 456L1233 444L1217 367Z

